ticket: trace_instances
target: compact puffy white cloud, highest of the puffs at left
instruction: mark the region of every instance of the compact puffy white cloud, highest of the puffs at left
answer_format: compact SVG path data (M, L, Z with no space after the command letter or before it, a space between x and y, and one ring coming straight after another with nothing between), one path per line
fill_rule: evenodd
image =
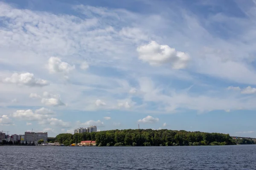
M49 73L69 73L71 70L75 69L75 65L71 66L67 62L62 62L58 57L50 57L47 68Z

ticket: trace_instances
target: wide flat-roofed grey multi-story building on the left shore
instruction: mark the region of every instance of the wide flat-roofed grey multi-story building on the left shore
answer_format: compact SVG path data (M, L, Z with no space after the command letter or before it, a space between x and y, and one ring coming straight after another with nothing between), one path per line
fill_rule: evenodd
M43 139L44 142L47 142L48 134L47 132L25 132L25 140L26 142L35 142L35 144L38 143L40 139Z

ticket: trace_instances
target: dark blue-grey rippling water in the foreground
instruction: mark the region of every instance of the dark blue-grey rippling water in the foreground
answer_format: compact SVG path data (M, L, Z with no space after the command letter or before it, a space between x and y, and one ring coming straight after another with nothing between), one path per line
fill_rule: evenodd
M256 170L256 145L0 147L0 170Z

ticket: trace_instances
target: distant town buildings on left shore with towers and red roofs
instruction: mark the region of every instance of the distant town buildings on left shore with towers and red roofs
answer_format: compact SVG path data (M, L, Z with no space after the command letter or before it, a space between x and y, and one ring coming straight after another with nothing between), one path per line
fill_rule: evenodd
M7 132L7 133L6 133ZM97 126L79 127L74 130L74 133L92 133L97 132ZM51 146L64 146L59 142L49 143L47 132L25 132L24 135L9 135L9 131L0 131L0 144L26 144L26 145L51 145ZM79 144L71 144L71 146L95 146L95 141L81 141Z

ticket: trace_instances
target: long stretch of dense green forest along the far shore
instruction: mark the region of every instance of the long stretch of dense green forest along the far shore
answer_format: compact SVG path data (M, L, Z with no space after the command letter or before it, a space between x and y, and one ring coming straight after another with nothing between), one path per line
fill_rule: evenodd
M233 139L229 134L188 132L185 130L128 129L107 130L93 133L61 133L48 142L67 145L84 140L96 141L98 146L197 146L254 144L252 139Z

